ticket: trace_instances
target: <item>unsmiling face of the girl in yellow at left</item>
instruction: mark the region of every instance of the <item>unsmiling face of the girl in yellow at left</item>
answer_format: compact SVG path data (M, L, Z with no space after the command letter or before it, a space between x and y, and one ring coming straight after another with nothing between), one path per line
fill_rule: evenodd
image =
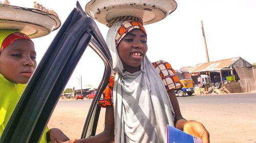
M36 68L32 41L18 39L0 52L0 73L14 83L28 83Z

